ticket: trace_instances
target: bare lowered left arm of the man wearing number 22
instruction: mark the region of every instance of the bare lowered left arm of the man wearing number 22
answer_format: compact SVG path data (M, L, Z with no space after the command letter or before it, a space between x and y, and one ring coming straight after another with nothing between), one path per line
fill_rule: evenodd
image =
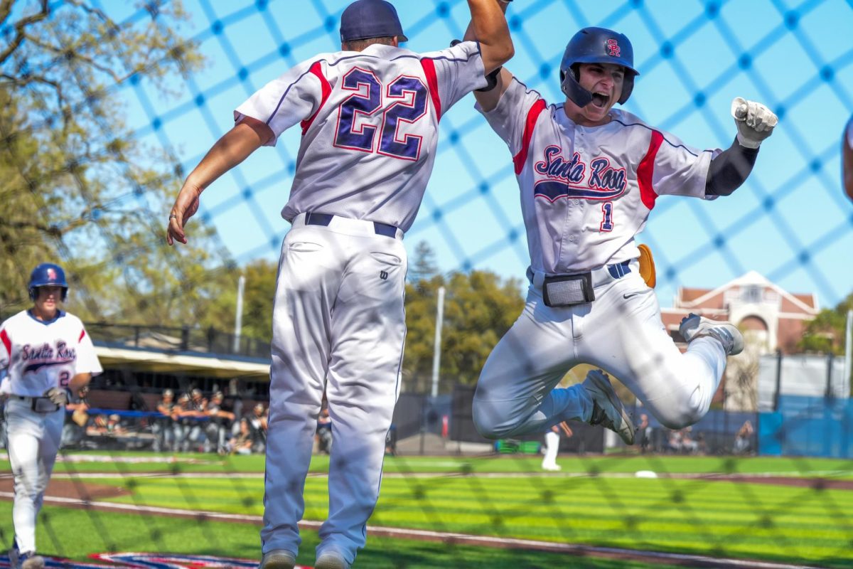
M275 135L268 125L258 119L243 117L240 124L226 132L213 145L189 174L177 195L175 205L171 206L165 237L169 245L173 245L175 241L186 244L187 235L183 227L198 211L201 192L225 172L246 160L249 154L273 136Z

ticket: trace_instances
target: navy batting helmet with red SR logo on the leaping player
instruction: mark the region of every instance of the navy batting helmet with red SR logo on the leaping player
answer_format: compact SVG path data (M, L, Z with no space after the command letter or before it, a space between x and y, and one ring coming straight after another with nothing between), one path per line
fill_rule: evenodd
M566 45L566 53L560 61L560 87L578 107L586 107L592 101L592 93L577 83L575 66L579 63L613 63L624 67L619 104L628 101L634 90L634 78L640 72L634 68L634 48L624 34L604 27L585 27Z

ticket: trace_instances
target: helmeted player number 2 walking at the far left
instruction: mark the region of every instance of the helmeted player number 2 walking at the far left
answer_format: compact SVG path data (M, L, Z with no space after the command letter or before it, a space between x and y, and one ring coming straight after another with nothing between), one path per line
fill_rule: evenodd
M36 554L36 516L59 450L65 405L102 372L92 340L77 316L61 311L68 284L57 264L30 275L32 308L0 325L0 369L6 398L9 462L15 477L12 567L42 569Z

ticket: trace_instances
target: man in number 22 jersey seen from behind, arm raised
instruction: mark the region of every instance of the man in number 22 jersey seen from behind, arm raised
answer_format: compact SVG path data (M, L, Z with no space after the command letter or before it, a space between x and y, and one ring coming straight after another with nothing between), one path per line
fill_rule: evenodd
M399 47L406 37L392 4L351 3L341 16L342 50L300 63L238 107L234 129L189 175L172 207L167 241L185 243L183 225L202 189L301 126L281 212L292 229L281 247L273 309L264 569L289 569L298 553L324 390L335 444L316 567L348 567L364 546L403 357L403 234L432 171L439 119L513 55L498 0L468 6L479 42L417 54Z

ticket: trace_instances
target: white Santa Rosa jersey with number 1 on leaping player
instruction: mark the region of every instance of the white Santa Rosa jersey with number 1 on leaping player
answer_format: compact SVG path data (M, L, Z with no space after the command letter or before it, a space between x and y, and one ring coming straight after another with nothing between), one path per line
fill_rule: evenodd
M517 79L483 113L513 154L533 270L577 273L637 258L634 236L659 195L705 197L720 150L610 113L606 125L576 125L562 104L549 106Z

